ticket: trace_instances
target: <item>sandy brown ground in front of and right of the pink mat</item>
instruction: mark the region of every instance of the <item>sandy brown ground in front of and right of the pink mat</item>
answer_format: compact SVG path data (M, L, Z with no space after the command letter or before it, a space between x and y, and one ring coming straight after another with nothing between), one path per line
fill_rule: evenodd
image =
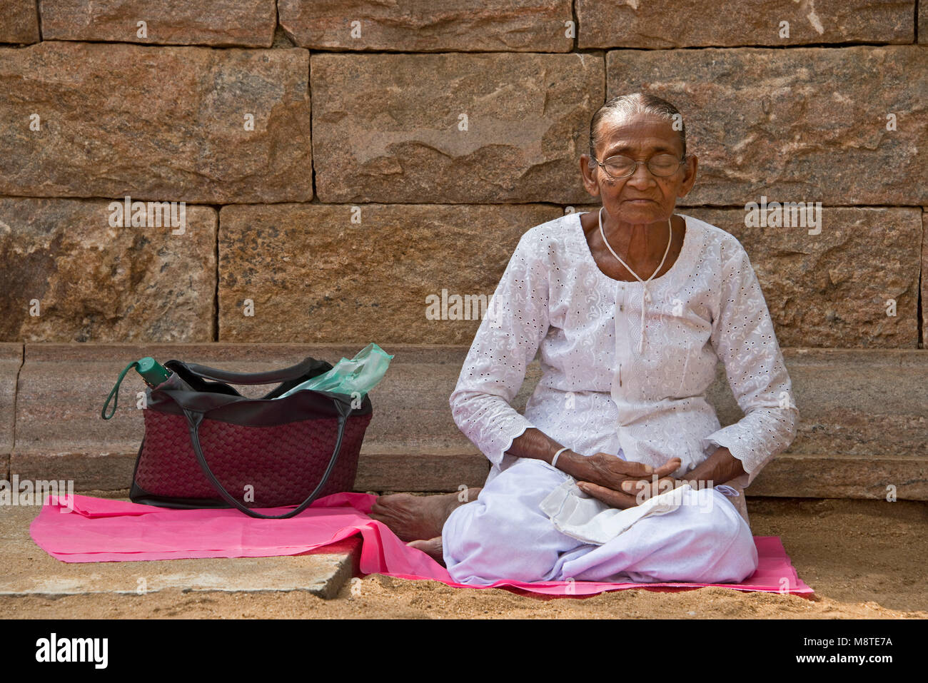
M928 617L928 503L750 498L754 535L779 535L809 599L728 588L547 598L369 574L337 599L304 591L0 597L6 618L918 618Z

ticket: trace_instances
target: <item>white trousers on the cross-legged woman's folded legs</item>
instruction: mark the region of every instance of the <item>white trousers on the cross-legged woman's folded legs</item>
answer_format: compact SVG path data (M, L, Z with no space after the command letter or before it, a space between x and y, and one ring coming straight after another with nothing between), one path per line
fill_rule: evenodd
M570 578L721 584L757 569L751 528L715 489L690 490L679 508L597 546L561 534L538 507L566 479L547 462L522 457L458 506L442 529L451 578L470 586Z

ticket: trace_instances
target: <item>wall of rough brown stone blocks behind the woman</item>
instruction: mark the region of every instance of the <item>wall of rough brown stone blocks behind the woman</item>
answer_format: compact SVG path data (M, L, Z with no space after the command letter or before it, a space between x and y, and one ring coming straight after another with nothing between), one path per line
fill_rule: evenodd
M589 119L641 90L684 113L678 210L742 240L782 346L920 348L926 17L5 0L0 342L468 344L426 297L491 294L522 232L595 209ZM820 233L745 226L765 200L821 202Z

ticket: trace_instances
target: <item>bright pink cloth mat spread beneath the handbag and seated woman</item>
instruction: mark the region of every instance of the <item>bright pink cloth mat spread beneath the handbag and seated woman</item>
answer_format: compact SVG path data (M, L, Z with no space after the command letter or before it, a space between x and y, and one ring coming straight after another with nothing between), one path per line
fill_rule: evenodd
M148 505L73 496L72 510L56 496L29 527L40 548L65 562L177 560L181 558L254 558L299 555L360 533L360 570L404 579L432 579L448 586L513 586L547 595L586 596L623 588L720 586L736 590L809 594L779 536L754 536L760 565L741 584L604 583L594 581L498 581L493 586L466 586L451 580L445 567L421 550L409 548L367 512L376 496L343 493L316 500L289 520L259 520L237 509L164 509ZM288 508L260 509L282 514ZM292 509L289 508L289 509Z

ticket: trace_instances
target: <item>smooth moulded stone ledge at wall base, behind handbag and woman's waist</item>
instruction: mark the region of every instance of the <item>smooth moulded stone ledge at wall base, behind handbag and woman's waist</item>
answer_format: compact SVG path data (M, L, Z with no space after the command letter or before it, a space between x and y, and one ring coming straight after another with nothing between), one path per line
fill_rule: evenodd
M6 479L73 480L75 490L131 481L144 435L130 371L116 417L100 410L119 372L145 355L255 372L313 356L337 362L360 345L253 343L0 344L0 467ZM488 463L459 431L447 398L467 346L390 344L393 362L370 393L374 418L361 450L359 491L453 491L480 485ZM928 499L928 352L915 349L783 349L800 410L793 445L757 477L752 495ZM255 360L261 358L262 360ZM741 419L724 367L706 393L721 423ZM522 411L540 377L535 360L513 406ZM246 395L269 387L238 387Z

